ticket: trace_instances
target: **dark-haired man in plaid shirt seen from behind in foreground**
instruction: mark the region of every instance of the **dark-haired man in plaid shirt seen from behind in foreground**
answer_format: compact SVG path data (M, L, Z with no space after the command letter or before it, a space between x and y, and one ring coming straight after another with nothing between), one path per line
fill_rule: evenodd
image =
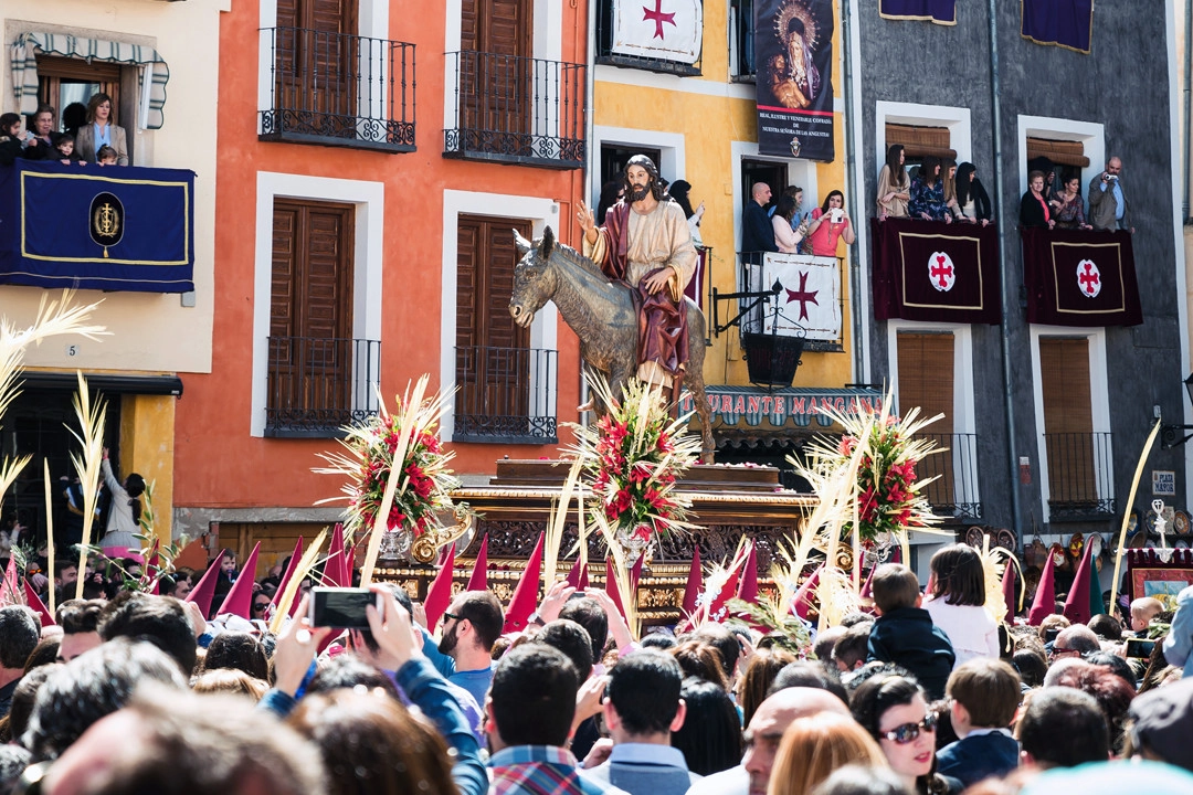
M581 777L567 747L579 689L571 660L550 646L525 644L501 658L486 710L489 795L625 795Z

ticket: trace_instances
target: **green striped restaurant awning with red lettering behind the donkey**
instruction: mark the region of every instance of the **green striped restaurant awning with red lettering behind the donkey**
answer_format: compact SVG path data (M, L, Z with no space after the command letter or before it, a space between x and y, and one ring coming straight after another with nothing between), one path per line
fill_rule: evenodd
M713 427L758 427L766 421L774 428L790 426L822 430L833 427L833 421L822 414L824 409L857 414L878 410L883 402L882 392L871 389L707 386L705 393L712 408ZM691 410L692 396L685 393L680 399L680 411Z

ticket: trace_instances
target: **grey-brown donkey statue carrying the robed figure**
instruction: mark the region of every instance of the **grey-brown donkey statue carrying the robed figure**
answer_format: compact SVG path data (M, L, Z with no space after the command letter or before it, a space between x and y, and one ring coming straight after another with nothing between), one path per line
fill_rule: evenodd
M638 371L638 316L630 286L610 281L592 260L574 248L557 243L548 226L543 237L531 243L514 231L520 260L514 268L514 291L509 313L527 327L534 312L554 300L560 315L580 337L580 356L589 371L608 379L612 395L622 395L626 381ZM704 312L687 298L687 369L684 386L700 415L700 460L712 464L712 410L704 395ZM605 406L595 406L605 414Z

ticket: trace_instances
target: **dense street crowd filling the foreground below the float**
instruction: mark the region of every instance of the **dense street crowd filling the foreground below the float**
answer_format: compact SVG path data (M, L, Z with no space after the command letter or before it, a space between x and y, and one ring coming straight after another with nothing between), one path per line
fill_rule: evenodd
M235 555L218 571L234 580ZM884 564L866 610L806 647L741 621L635 639L606 591L565 582L514 633L492 591L427 621L382 583L367 628L314 626L303 595L274 635L277 570L247 621L209 620L183 573L169 596L67 598L45 626L13 604L0 793L1193 791L1193 679L1163 662L1193 662L1193 589L1175 617L1146 598L1129 623L1000 626L984 578L964 545L923 590ZM1150 660L1125 652L1133 635L1156 640Z

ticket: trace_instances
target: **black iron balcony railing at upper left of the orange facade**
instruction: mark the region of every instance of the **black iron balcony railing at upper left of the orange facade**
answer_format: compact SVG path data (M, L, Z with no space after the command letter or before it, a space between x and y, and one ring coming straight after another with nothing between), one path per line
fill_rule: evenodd
M302 27L261 31L261 141L414 151L414 44Z

